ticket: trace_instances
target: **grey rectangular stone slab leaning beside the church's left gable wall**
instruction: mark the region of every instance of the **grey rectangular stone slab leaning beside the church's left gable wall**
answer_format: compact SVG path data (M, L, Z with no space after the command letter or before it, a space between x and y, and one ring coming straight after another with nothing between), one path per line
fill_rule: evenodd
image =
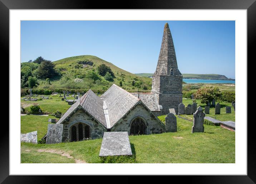
M63 124L48 124L46 144L61 143Z

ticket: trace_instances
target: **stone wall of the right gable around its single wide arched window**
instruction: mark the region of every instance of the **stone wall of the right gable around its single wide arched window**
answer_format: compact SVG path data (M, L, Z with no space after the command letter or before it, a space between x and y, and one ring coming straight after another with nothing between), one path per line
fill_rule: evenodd
M112 132L127 131L133 119L141 117L147 123L147 134L166 132L164 124L143 103L139 103L120 119L111 129Z

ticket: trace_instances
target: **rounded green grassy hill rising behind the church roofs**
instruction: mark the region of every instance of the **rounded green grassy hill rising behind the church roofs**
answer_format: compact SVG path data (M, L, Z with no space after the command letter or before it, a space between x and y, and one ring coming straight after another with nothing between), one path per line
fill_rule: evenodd
M142 83L148 90L151 90L151 79L148 77L140 77L133 73L127 72L110 62L102 60L96 56L83 55L64 58L53 62L56 70L61 76L51 78L51 86L39 85L38 88L89 88L85 79L85 74L90 71L97 71L97 67L101 64L109 66L114 72L115 78L113 82L109 82L101 77L101 81L93 85L91 89L107 90L113 83L119 85L122 81L125 90L136 90L137 87L132 86L132 81ZM83 83L75 83L74 79L80 78L84 80ZM42 82L43 83L43 82ZM144 87L145 88L145 87Z

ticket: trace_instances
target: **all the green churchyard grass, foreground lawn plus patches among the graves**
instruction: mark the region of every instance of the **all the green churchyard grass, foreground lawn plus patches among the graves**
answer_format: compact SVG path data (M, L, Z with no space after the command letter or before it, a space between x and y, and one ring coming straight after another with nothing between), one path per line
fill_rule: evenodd
M53 113L59 110L64 113L69 108L67 102L61 101L57 95L50 97L52 99L36 102L43 111ZM33 104L24 100L21 103ZM192 104L192 100L183 99L183 103L187 106ZM197 103L204 108L200 101ZM220 104L221 114L215 115L214 108L211 108L209 115L221 121L235 121L233 108L231 114L225 113L225 106L231 104ZM164 122L164 117L159 116L159 119ZM42 138L47 132L48 118L54 117L21 116L21 133L38 131L38 139ZM21 143L21 163L235 163L235 132L220 126L204 125L204 133L192 134L192 122L178 117L177 126L176 133L129 136L133 152L131 158L101 160L98 155L102 139L95 139L59 144Z

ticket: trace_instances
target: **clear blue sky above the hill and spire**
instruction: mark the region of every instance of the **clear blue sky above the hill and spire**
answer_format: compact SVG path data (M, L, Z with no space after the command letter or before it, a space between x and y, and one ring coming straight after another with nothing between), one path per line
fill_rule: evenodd
M166 22L181 73L235 78L235 21L21 21L21 62L94 55L153 73Z

